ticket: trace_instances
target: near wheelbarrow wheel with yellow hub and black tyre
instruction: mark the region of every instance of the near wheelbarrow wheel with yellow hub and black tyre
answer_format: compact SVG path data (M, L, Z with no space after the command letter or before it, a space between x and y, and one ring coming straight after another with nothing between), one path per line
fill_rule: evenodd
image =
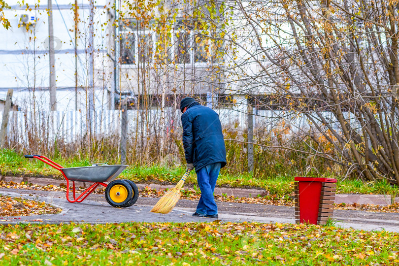
M114 180L105 189L105 199L113 207L124 207L132 197L132 186L125 180Z

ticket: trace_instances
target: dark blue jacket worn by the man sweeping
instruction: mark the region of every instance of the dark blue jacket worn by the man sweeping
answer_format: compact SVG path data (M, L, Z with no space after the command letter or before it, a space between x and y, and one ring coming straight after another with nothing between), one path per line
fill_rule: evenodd
M187 164L194 164L196 171L213 163L226 166L222 125L214 110L193 102L181 115L181 123Z

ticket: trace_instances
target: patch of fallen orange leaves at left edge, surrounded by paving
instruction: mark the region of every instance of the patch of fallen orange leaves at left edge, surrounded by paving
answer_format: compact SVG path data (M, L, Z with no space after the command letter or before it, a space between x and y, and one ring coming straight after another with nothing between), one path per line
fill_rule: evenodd
M4 195L0 195L0 207L0 216L28 216L61 212L60 208L46 204L46 202L12 198Z

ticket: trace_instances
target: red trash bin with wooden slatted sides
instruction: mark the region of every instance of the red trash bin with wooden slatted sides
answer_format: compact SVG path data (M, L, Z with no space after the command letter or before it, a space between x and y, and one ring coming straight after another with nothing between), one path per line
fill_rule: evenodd
M332 216L336 179L295 177L295 222L325 225Z

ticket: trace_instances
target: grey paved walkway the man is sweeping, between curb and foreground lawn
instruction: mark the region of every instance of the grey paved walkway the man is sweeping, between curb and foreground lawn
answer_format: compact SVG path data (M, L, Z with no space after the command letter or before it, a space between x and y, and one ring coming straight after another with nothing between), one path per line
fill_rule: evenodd
M181 199L168 214L150 213L158 198L139 198L129 208L111 207L103 195L91 195L81 203L69 203L65 192L0 189L0 194L51 203L63 209L60 214L2 217L1 224L16 223L120 223L120 222L211 222L213 219L191 217L197 201ZM262 223L294 223L294 208L286 206L217 202L219 219ZM18 219L21 218L21 219ZM399 233L399 213L375 213L335 210L332 217L342 228L387 230Z

